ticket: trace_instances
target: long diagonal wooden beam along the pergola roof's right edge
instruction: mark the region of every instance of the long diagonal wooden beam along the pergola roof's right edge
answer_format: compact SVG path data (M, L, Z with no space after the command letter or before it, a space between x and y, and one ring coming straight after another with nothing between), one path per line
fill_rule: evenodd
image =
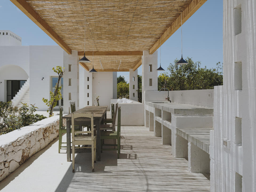
M182 11L182 23L185 23L207 0L192 0L189 6ZM161 36L161 44L163 44L175 31L181 26L181 15L177 17L174 23ZM160 47L160 38L149 49L149 54L153 54Z

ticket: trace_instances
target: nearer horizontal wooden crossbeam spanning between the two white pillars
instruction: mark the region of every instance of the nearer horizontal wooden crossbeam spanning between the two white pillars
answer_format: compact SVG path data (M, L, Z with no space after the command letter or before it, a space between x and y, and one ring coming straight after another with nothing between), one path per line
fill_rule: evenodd
M143 51L78 51L79 56L98 56L98 55L143 55Z

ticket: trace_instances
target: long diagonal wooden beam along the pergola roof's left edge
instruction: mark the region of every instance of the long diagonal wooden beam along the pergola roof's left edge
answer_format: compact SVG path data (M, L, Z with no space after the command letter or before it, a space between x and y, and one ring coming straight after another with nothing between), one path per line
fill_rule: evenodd
M27 17L29 17L38 27L40 27L47 35L50 36L62 49L71 54L71 49L67 44L55 33L54 30L35 12L35 10L25 0L10 0L16 5Z

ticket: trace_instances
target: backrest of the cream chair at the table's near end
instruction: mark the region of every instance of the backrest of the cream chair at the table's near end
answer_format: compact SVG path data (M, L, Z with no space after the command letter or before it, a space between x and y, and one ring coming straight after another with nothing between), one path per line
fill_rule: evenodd
M90 131L75 131L75 119L76 118L90 118L91 119L91 130ZM72 141L74 141L75 134L90 133L92 140L94 137L93 129L93 113L71 113L71 125L72 125Z

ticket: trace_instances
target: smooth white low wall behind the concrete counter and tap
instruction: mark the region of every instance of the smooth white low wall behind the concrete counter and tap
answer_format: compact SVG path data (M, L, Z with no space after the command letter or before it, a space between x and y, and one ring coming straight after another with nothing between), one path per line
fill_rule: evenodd
M167 101L168 91L145 91L145 101ZM172 103L213 108L213 89L169 91Z

